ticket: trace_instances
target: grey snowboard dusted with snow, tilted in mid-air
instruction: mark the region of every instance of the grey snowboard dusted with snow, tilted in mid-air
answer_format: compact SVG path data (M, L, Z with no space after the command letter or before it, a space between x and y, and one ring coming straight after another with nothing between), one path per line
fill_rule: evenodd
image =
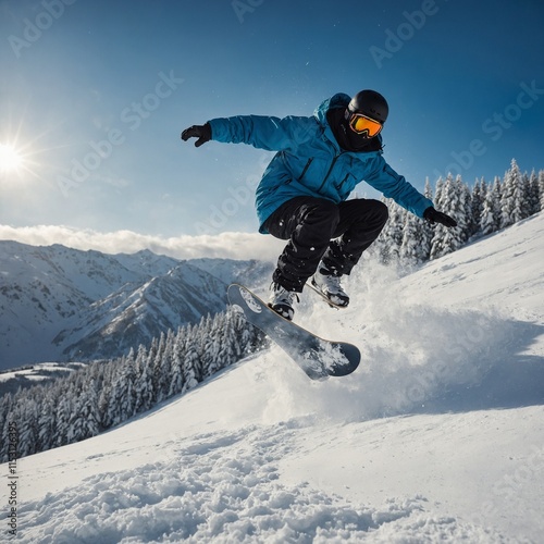
M345 376L359 366L357 346L320 338L276 313L244 285L230 285L227 295L234 309L277 344L311 380Z

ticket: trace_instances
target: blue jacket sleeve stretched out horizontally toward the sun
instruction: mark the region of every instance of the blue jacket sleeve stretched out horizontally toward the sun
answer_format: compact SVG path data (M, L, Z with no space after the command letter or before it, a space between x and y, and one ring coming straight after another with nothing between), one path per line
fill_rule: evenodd
M237 115L208 121L211 139L230 144L248 144L258 149L281 151L292 149L311 138L316 131L314 118L270 118Z

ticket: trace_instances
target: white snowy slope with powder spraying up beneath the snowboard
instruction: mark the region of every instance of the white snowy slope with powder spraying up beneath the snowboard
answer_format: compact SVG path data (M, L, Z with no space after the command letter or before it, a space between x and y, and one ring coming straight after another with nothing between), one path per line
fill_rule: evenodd
M79 444L21 459L18 542L543 542L544 214L332 310L312 382L276 347ZM1 467L8 473L8 466Z

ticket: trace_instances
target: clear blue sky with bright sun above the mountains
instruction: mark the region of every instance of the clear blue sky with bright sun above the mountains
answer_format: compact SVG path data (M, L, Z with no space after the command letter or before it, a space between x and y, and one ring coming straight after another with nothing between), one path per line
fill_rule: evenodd
M541 0L0 1L0 224L181 236L257 230L272 154L180 140L235 114L390 102L385 158L422 190L544 168ZM375 196L364 184L360 196Z

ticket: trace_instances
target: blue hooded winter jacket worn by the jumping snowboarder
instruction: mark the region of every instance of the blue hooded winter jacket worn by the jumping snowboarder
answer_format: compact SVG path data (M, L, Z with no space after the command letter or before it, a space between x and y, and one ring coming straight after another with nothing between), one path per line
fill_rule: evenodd
M345 94L334 95L317 108L312 118L239 115L209 121L213 140L277 151L256 191L261 233L267 234L263 223L287 200L307 195L338 203L361 181L419 218L433 206L385 162L381 150L341 149L326 112L330 108L346 108L349 100Z

